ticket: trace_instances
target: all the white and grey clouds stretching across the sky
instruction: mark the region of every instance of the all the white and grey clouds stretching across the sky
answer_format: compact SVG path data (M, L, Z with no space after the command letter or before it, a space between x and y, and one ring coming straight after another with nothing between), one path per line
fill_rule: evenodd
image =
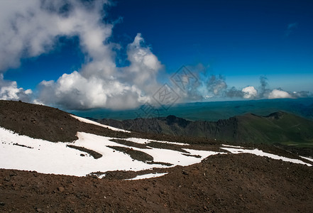
M0 99L21 99L63 109L131 109L155 103L151 98L162 84L158 82L163 65L145 45L141 33L126 47L129 65L116 65L116 48L110 38L114 23L106 21L105 6L110 1L32 0L0 1ZM287 30L292 31L297 23ZM63 74L57 80L43 81L38 91L19 88L14 81L4 80L3 73L19 67L21 59L49 53L58 39L79 38L85 62L81 70ZM285 92L268 89L265 77L260 87L229 88L226 78L212 75L202 65L190 67L197 80L187 82L184 91L172 85L179 102L203 101L212 97L242 99L307 97L308 92ZM190 84L189 84L190 83Z

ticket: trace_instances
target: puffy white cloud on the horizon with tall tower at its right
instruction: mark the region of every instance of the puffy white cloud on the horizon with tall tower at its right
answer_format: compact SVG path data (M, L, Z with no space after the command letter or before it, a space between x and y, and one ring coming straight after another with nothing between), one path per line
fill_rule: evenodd
M151 102L153 88L159 87L156 74L162 65L144 46L140 34L128 45L128 60L128 67L112 67L109 73L103 72L104 66L94 60L82 72L64 74L56 82L43 81L38 101L67 109L128 109Z

